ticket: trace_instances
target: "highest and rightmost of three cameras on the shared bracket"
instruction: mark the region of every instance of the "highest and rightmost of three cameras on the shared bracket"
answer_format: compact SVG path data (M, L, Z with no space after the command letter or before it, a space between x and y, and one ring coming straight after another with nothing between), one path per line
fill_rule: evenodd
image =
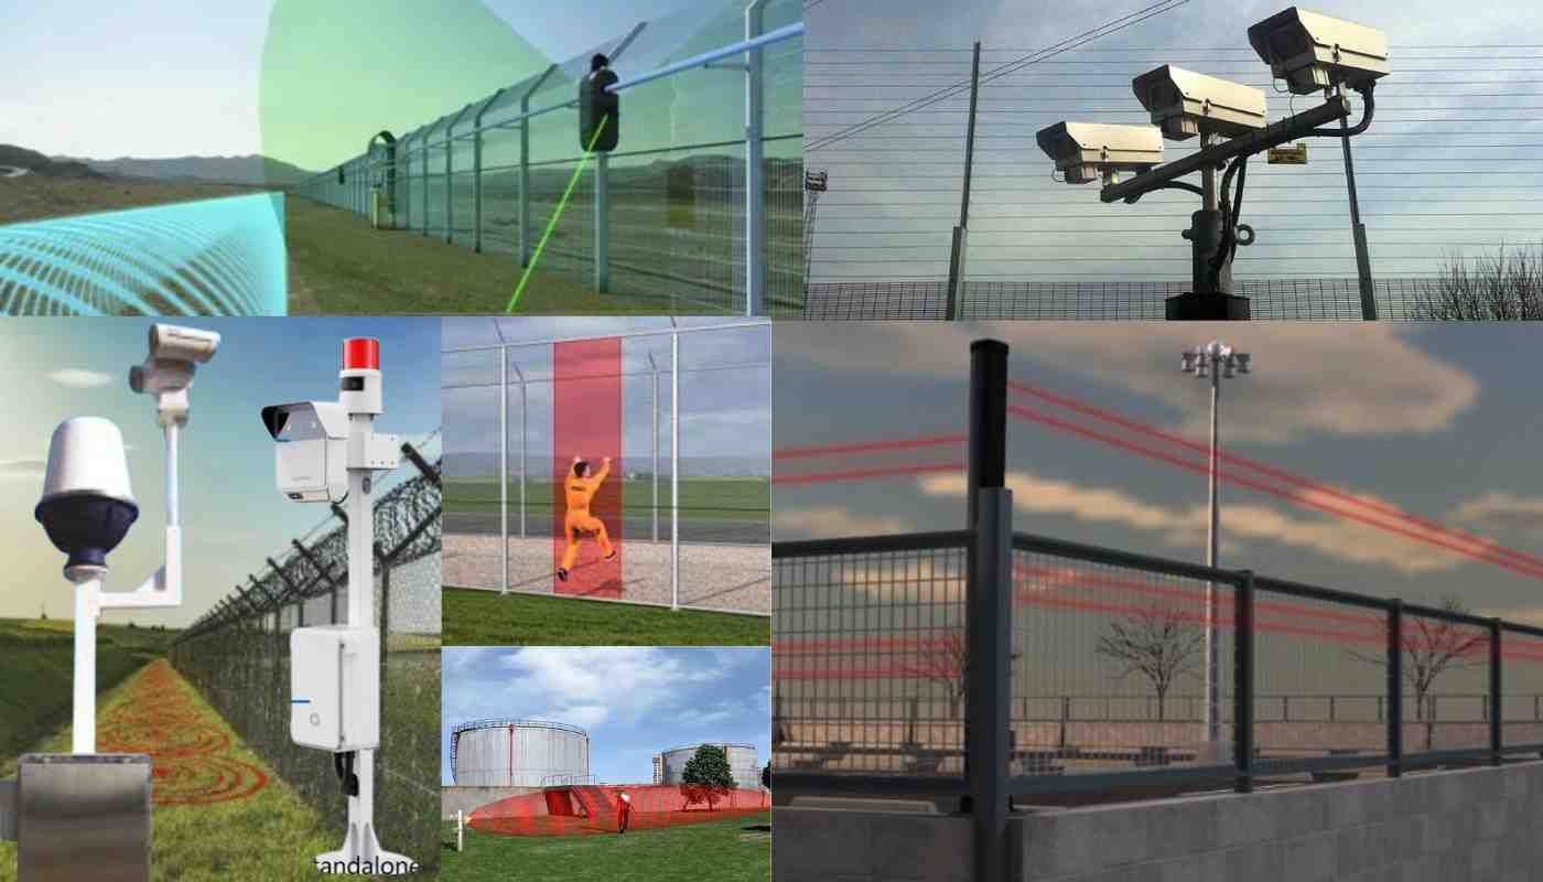
M1248 28L1248 42L1293 94L1366 88L1389 73L1387 34L1291 6Z

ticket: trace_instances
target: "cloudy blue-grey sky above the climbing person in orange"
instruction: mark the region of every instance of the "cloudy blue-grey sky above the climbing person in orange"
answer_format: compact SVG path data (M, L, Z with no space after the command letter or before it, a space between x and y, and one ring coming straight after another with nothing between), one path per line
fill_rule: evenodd
M679 320L687 327L738 324L733 320ZM659 456L670 456L670 335L626 337L634 331L670 327L668 318L449 318L444 321L444 349L486 346L500 341L529 343L512 348L509 380L526 377L529 406L528 449L534 474L545 474L552 448L552 348L549 340L622 337L622 449L630 466L647 466L653 445L653 375L659 378ZM772 443L772 331L770 323L753 327L688 332L680 335L680 456L734 457L745 474L765 474ZM469 474L468 468L497 468L488 460L498 453L498 354L444 354L444 423L447 471ZM511 456L520 449L520 395L509 392ZM582 451L576 451L582 453ZM468 459L471 454L474 459ZM668 468L668 466L662 466ZM688 474L690 462L682 468Z

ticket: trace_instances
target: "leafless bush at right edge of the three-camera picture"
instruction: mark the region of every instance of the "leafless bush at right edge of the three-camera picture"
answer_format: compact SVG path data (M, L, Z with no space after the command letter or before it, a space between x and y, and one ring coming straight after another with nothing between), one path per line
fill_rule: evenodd
M1543 318L1543 247L1501 247L1469 266L1449 258L1441 275L1420 292L1415 318L1497 321Z

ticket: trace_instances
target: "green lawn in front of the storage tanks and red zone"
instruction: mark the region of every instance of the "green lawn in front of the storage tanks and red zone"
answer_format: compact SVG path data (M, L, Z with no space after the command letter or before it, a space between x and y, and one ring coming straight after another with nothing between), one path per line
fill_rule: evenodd
M441 877L455 882L562 879L616 882L761 882L772 877L772 812L626 836L491 836L466 831L455 851L455 822L444 831Z

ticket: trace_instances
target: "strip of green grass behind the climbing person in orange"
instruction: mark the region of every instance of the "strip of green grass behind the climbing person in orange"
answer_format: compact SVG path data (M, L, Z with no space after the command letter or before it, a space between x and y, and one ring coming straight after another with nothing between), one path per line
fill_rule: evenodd
M613 479L614 480L614 479ZM622 513L645 517L654 504L653 482L622 480ZM526 480L526 510L546 513L552 510L552 482ZM509 482L511 508L520 504L518 476ZM670 511L670 480L659 479L660 517ZM446 511L498 511L497 477L447 477L444 479ZM542 514L537 514L540 517ZM680 521L711 519L765 524L772 517L772 480L767 477L682 477Z

